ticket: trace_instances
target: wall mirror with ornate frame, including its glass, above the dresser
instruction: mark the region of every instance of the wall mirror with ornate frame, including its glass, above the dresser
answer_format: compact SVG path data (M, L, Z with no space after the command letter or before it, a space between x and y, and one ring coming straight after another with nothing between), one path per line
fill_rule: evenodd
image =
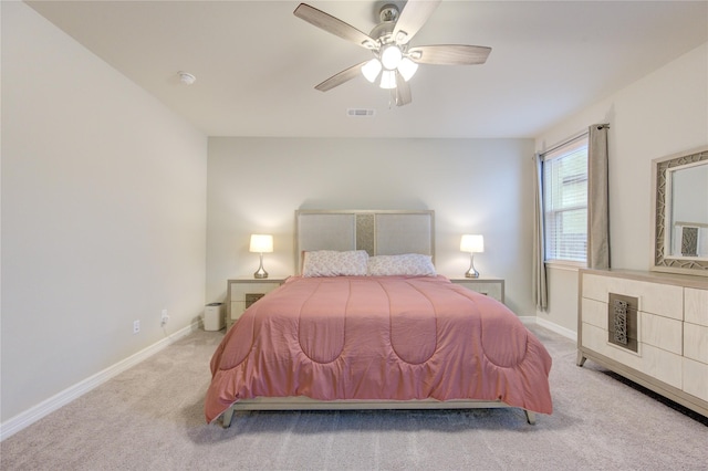
M708 276L708 147L652 167L652 270Z

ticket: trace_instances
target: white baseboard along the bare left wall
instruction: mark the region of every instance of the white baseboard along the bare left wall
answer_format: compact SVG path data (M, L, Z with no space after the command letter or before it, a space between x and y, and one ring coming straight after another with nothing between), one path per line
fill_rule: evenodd
M106 383L108 379L119 375L126 369L137 365L138 363L149 358L155 355L159 350L166 348L170 344L174 344L178 339L186 337L192 332L197 331L200 326L200 322L196 321L192 324L180 328L171 335L163 338L162 341L146 347L138 353L131 355L129 357L116 363L113 366L107 367L106 369L96 373L95 375L71 386L63 391L50 397L46 400L38 404L37 406L25 410L24 412L18 414L11 419L6 420L0 423L0 441L4 440L8 437L13 436L25 427L31 426L37 422L41 418L48 416L49 414L58 410L59 408L67 405L72 400L83 396L90 390L101 386Z

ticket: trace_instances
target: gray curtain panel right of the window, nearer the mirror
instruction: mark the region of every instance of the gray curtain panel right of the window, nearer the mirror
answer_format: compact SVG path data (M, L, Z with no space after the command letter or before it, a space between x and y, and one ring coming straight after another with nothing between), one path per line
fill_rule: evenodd
M587 268L610 268L607 124L593 124L587 136Z

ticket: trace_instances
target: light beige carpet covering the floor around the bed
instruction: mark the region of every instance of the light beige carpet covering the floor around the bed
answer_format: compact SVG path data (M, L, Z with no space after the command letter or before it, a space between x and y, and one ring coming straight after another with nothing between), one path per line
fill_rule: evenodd
M239 412L205 423L209 358L196 332L0 443L3 470L706 470L708 420L587 362L553 356L552 416L517 409Z

